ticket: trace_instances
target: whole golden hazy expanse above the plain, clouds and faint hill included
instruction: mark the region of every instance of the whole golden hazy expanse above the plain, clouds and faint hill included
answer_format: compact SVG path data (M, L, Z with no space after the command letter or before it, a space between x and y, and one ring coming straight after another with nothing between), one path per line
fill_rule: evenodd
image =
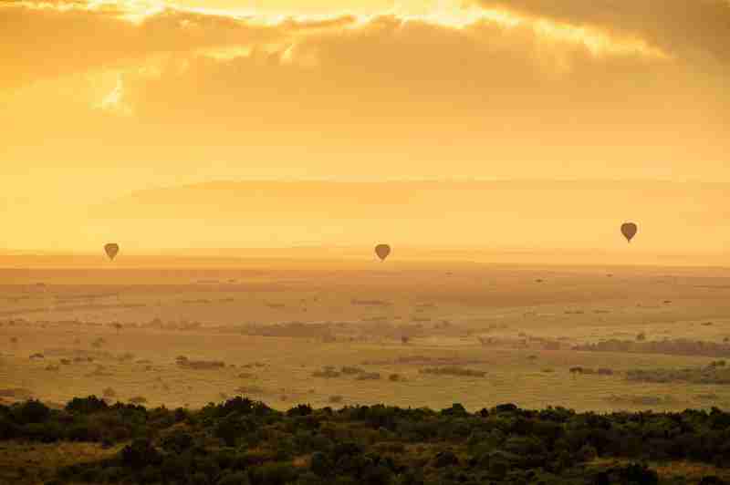
M722 252L730 4L610 5L5 0L2 245Z

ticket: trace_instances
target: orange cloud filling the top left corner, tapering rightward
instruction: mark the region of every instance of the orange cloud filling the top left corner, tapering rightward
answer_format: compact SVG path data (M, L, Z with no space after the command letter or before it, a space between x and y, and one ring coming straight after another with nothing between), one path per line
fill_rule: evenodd
M287 20L278 26L164 5L130 9L116 2L2 2L0 89L140 62L161 53L282 41L297 31L346 26L350 21Z

